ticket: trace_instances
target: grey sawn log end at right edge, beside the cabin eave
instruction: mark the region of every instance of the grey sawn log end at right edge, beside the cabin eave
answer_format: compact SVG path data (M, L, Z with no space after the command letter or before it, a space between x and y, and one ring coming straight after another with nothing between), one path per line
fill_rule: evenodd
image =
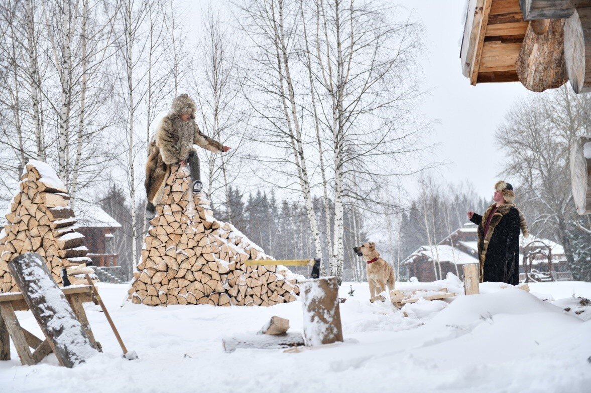
M564 23L564 58L575 93L591 91L591 7L577 8Z

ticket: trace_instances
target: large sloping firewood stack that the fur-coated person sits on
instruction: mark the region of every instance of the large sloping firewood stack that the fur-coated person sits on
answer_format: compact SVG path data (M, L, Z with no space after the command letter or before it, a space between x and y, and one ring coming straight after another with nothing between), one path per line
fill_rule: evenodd
M188 171L173 166L145 237L129 294L132 302L272 306L296 300L293 273L272 260L233 225L213 218L204 194L193 195Z

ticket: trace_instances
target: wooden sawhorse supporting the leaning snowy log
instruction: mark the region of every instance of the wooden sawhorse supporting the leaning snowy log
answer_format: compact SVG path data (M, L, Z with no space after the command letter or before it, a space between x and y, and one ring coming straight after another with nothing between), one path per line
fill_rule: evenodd
M72 306L72 310L82 324L90 345L102 352L100 343L90 330L90 323L86 317L83 303L93 302L92 289L89 285L77 285L62 289L66 299ZM10 339L17 349L22 365L34 365L49 355L51 346L47 338L41 340L33 333L23 329L18 322L15 311L28 310L24 296L20 292L0 293L0 361L10 360ZM30 348L33 348L31 353Z

